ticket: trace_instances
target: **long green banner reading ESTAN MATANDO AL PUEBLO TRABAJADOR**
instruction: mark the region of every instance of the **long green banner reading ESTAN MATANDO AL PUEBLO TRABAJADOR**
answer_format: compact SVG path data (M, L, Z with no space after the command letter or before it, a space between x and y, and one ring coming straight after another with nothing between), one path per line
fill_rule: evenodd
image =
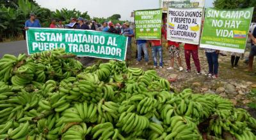
M65 48L79 57L125 60L127 37L106 32L75 29L29 28L28 54Z

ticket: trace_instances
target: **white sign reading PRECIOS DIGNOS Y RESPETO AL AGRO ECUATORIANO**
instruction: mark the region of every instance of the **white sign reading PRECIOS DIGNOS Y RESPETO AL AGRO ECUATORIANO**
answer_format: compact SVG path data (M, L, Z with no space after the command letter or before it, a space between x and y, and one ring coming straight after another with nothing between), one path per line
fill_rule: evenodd
M198 45L202 16L202 8L168 8L167 39Z

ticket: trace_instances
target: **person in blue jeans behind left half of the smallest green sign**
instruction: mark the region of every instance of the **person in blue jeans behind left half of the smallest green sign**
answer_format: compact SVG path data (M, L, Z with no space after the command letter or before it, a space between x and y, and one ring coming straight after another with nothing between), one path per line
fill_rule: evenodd
M147 48L147 40L145 39L138 39L137 41L137 50L138 50L138 58L137 63L138 65L141 62L141 53L144 52L144 58L145 58L145 65L148 65L148 48Z

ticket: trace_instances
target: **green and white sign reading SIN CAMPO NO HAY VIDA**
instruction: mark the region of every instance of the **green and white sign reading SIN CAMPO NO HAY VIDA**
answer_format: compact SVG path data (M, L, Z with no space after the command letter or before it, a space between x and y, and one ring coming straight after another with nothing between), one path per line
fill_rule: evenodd
M244 53L253 8L205 11L200 47Z

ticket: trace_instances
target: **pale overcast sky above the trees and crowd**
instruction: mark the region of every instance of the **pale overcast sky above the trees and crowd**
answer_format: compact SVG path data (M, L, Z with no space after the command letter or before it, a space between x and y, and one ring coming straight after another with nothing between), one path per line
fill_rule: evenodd
M205 7L212 7L214 0L205 0ZM36 0L42 7L52 11L61 8L88 11L93 17L110 17L120 14L122 20L131 20L131 11L159 8L159 0Z

